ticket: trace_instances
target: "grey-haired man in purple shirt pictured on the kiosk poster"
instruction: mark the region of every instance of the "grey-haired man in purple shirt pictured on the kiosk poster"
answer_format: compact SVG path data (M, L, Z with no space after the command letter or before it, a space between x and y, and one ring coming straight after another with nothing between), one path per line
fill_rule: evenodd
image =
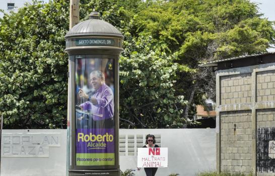
M114 95L110 87L105 84L104 74L98 70L92 71L90 83L95 90L93 96L79 89L79 96L88 100L80 105L81 109L93 114L93 128L114 128Z

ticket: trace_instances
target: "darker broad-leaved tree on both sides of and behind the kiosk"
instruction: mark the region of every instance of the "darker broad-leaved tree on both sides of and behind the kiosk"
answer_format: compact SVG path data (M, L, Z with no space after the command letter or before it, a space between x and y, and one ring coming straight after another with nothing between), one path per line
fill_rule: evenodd
M132 9L124 10L118 4ZM125 52L120 59L121 126L127 127L130 121L131 127L142 128L182 125L183 120L179 119L182 108L177 109L177 106L184 104L183 97L174 96L174 81L170 80L175 77L177 69L173 56L166 56L159 46L153 47L149 37L133 39L130 34L135 8L140 6L141 2L134 1L130 4L123 1L82 1L81 17L85 20L91 10L96 9L102 12L104 20L126 36ZM67 7L66 1L50 1L45 5L34 1L18 13L6 14L0 20L0 107L5 128L65 127L67 56L63 50L64 35L68 30ZM148 65L145 67L143 63ZM154 72L150 73L148 69ZM133 93L134 97L127 97L128 87L139 91ZM135 100L134 103L130 99ZM148 102L150 106L146 105ZM130 110L126 108L128 106ZM131 114L139 117L130 119ZM144 118L139 119L140 115ZM154 123L148 117L152 117Z

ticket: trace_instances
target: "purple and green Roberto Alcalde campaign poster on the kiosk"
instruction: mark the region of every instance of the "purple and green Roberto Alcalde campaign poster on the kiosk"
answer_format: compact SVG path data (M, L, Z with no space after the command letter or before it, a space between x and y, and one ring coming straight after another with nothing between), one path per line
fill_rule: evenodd
M115 165L114 59L75 63L76 165Z

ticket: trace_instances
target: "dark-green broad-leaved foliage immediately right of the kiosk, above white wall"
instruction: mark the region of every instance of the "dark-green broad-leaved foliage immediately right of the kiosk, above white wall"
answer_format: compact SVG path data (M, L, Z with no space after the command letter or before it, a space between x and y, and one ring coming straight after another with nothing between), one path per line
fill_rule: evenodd
M177 128L184 96L174 89L178 64L151 37L125 41L120 58L120 122L123 128Z

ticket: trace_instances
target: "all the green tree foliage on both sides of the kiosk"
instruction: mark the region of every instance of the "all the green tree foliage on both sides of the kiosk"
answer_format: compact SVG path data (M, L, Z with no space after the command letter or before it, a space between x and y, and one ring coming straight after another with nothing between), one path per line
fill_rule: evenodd
M65 127L68 3L34 0L0 19L0 109L6 128ZM194 112L190 105L214 97L213 73L198 63L265 52L275 43L274 23L248 0L80 4L81 20L95 9L125 36L119 60L122 128L182 127Z

